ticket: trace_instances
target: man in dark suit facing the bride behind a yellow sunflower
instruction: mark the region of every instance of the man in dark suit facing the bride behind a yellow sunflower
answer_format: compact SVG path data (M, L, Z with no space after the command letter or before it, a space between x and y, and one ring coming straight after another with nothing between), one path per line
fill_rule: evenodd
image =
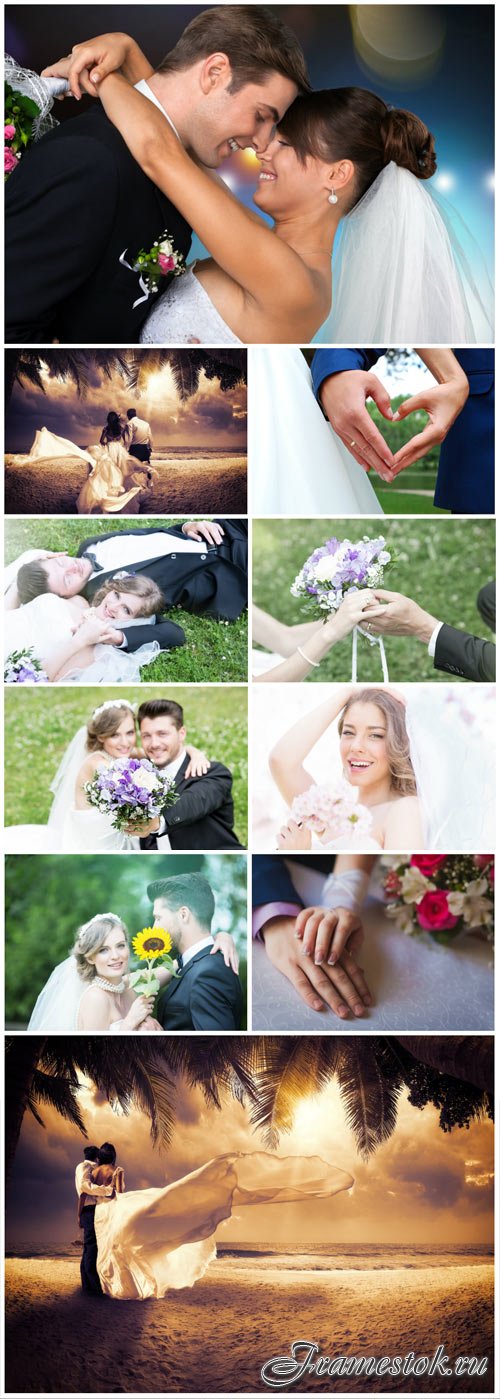
M164 1030L239 1030L242 992L237 974L213 953L216 901L203 874L174 874L148 884L154 922L179 951L179 974L157 1004Z

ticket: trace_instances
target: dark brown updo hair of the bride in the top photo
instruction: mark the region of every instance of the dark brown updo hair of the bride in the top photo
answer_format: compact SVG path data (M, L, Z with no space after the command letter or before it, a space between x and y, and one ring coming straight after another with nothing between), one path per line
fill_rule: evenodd
M279 134L298 159L350 159L356 168L347 208L363 197L385 165L394 161L417 179L436 171L434 137L415 112L391 108L367 88L325 88L297 97L289 106Z

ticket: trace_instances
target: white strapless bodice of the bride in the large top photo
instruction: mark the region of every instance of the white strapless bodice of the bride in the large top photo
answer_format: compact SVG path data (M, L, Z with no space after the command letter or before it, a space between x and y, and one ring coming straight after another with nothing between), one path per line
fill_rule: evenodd
M241 346L195 273L174 277L168 291L153 304L140 341L146 346Z

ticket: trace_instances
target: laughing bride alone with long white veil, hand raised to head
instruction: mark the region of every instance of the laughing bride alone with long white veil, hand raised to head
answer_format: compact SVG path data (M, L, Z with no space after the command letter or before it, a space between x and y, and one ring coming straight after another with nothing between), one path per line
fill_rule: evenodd
M272 776L289 807L275 846L455 852L493 848L493 708L490 691L468 702L464 691L436 693L430 686L410 687L405 695L387 687L329 687L328 698L307 713L301 708L300 718L270 751ZM308 771L305 762L312 753ZM342 841L328 824L319 828L315 823L317 834L311 837L305 817L304 824L300 821L303 802L296 807L297 818L290 810L307 793L305 804L311 804L310 799L318 802L315 783L325 782L325 774L326 785L343 793L349 788L357 790L361 814L364 809L368 818L368 827L363 821L359 835L354 828Z

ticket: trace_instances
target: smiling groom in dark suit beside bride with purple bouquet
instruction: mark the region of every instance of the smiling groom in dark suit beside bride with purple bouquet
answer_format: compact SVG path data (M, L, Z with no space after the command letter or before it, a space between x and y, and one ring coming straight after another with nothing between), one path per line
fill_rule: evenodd
M175 781L178 800L155 817L140 838L141 851L161 851L168 837L172 851L241 849L232 830L232 776L221 762L210 762L199 778L186 778L183 711L175 700L147 700L137 713L146 757ZM137 831L137 827L136 827Z

